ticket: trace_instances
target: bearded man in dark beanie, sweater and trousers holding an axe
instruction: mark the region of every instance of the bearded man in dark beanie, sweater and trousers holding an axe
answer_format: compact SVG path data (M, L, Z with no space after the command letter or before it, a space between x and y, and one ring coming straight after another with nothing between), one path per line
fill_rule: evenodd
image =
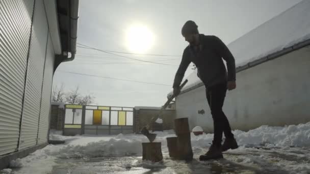
M209 151L200 155L200 160L223 158L222 152L238 148L229 122L222 110L227 89L236 89L236 66L233 54L216 36L199 34L194 21L187 21L182 28L182 35L189 45L184 49L182 61L176 71L173 94L179 95L179 85L189 64L193 62L198 70L198 77L205 85L214 125L214 137ZM227 71L223 62L226 61ZM225 135L224 143L222 135Z

